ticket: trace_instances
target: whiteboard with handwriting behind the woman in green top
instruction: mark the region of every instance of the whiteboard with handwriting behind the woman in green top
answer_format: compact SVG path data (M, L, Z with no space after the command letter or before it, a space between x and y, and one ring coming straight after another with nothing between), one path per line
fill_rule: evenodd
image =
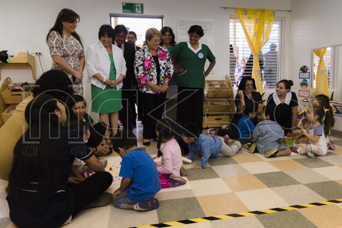
M199 25L204 31L204 36L199 40L200 43L206 44L210 51L214 52L214 21L213 20L192 20L177 19L177 43L189 41L188 30L192 25ZM210 62L207 60L204 70L207 70ZM214 73L214 69L210 73Z

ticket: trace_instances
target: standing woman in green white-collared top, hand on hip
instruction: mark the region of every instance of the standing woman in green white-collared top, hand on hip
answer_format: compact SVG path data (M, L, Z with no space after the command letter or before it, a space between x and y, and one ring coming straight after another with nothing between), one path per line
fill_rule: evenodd
M188 34L189 41L178 43L170 51L171 59L176 58L180 63L180 68L175 70L179 72L176 82L178 86L177 122L182 125L193 122L202 132L205 77L209 75L216 61L208 46L199 43L204 35L201 26L191 26ZM210 65L205 71L204 65L207 59Z

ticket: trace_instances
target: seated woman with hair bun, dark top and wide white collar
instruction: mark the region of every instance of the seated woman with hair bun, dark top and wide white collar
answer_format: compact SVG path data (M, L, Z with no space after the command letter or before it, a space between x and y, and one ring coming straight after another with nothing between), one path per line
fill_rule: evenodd
M276 122L286 133L293 133L297 125L298 99L294 92L291 92L292 80L280 80L277 83L276 92L269 95L267 104L273 104L280 108L280 118Z

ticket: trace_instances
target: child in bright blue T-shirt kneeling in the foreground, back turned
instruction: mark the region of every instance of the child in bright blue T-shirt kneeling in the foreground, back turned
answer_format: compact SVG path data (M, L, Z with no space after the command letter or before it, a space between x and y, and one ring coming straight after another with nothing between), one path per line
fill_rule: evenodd
M154 160L144 150L137 149L132 131L118 132L112 144L122 158L119 173L122 180L120 188L113 193L113 205L136 211L157 209L159 201L154 196L161 187Z

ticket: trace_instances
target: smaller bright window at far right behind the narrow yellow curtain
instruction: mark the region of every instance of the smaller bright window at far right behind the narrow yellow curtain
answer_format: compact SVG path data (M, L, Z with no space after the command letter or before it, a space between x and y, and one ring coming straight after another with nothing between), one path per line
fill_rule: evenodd
M328 88L333 89L334 88L334 67L333 67L333 60L334 60L334 47L328 47L327 51L325 52L323 59L325 62L325 68L327 70L327 76L328 76ZM315 55L315 53L312 53L312 88L316 88L316 76L317 76L317 67L318 67L319 57Z

